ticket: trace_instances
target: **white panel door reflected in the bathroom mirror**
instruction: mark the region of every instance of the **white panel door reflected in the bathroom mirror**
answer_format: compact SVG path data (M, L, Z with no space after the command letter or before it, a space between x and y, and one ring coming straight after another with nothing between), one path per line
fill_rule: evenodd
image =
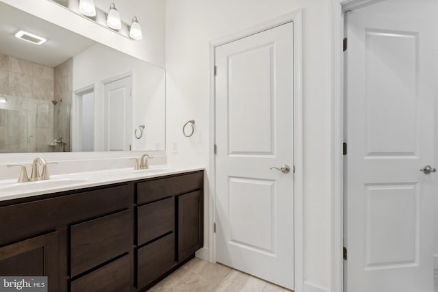
M132 142L132 79L125 77L104 86L105 150L131 150Z

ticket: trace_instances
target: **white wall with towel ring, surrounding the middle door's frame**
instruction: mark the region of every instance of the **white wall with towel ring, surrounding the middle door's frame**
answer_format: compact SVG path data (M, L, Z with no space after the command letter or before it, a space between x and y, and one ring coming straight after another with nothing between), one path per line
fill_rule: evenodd
M167 0L167 155L209 168L209 42L303 8L305 291L331 286L331 6L328 0ZM192 138L181 127L196 120ZM172 153L172 143L179 153ZM207 178L209 173L207 172ZM208 211L208 194L205 210ZM205 212L206 217L208 213ZM209 226L205 222L205 245ZM292 275L291 275L292 276Z

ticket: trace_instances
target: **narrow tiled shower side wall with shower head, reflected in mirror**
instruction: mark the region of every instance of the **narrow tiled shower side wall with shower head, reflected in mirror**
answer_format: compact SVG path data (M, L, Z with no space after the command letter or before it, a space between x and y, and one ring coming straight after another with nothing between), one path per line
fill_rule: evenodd
M73 58L55 67L55 99L61 99L53 109L53 137L62 140L54 151L70 151L70 109L73 98Z

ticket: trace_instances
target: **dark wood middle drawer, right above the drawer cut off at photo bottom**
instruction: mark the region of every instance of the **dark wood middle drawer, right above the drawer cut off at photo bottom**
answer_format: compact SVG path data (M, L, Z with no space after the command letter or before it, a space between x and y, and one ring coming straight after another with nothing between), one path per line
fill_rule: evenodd
M132 244L131 210L70 227L71 276L129 252Z

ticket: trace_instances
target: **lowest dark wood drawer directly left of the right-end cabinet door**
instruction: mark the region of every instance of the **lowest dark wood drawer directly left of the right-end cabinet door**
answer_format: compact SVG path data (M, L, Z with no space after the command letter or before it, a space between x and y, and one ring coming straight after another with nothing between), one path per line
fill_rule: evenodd
M175 233L139 248L137 263L137 288L142 289L176 264Z

